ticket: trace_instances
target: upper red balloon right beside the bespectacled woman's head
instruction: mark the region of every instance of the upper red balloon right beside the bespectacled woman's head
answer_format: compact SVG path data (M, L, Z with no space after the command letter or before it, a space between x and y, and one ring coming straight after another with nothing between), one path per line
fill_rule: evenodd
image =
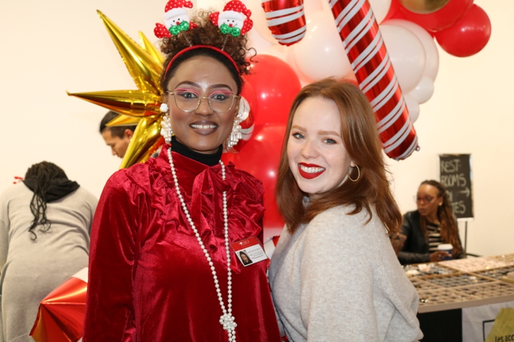
M286 123L289 108L301 89L298 76L291 66L275 56L257 55L250 63L251 73L244 79L257 98L258 110L252 109L255 125Z

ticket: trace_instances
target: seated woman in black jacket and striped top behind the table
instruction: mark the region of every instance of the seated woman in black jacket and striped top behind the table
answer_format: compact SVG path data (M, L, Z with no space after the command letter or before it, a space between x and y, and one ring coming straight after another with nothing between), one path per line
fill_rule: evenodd
M406 239L398 254L400 263L436 262L450 257L448 252L437 250L439 244L452 244L453 259L465 258L445 187L435 180L425 180L415 202L418 209L403 215L401 233Z

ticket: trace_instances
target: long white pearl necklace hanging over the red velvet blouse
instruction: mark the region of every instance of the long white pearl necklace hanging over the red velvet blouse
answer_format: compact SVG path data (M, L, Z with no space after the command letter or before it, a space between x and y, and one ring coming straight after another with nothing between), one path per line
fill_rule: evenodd
M223 296L221 296L221 290L218 284L218 276L216 275L216 269L214 267L213 261L211 259L211 255L209 255L205 245L203 244L203 241L201 240L200 234L198 233L198 229L196 229L196 226L193 222L193 219L191 219L191 215L189 214L189 211L186 207L186 202L184 202L182 194L180 192L180 188L178 187L178 180L176 177L175 172L175 166L173 165L173 157L171 156L171 147L168 148L168 159L171 166L171 174L173 175L173 182L175 183L175 190L178 196L178 199L180 199L182 210L184 214L186 214L186 217L188 219L189 225L191 225L191 228L193 229L193 232L195 233L196 240L198 241L198 244L200 244L200 248L202 249L203 254L205 254L205 257L208 261L209 266L211 266L211 273L213 275L214 280L214 286L216 287L216 294L218 294L218 301L221 307L221 311L223 312L223 315L220 316L220 324L223 326L223 329L228 331L228 341L229 342L235 342L236 341L236 326L237 323L235 322L234 316L232 316L232 270L230 268L231 264L231 256L230 256L230 244L228 241L228 214L227 214L227 204L226 204L226 191L223 191L223 220L225 222L225 228L224 228L224 235L225 235L225 252L227 256L227 305L225 307L225 303L223 302ZM221 165L221 179L225 180L225 165L220 160Z

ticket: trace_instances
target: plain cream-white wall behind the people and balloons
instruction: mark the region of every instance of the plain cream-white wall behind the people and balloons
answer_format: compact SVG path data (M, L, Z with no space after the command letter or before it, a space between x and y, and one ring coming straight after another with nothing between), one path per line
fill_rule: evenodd
M514 252L514 118L508 110L514 88L514 1L475 3L493 24L488 46L468 58L440 51L435 93L421 105L415 123L421 150L389 163L395 196L407 211L415 207L418 184L438 178L440 153L471 153L475 220L468 224L468 251L493 255ZM98 133L106 110L69 98L65 90L135 89L96 9L136 40L138 31L153 40L165 4L0 0L0 192L34 162L49 160L100 195L121 161Z

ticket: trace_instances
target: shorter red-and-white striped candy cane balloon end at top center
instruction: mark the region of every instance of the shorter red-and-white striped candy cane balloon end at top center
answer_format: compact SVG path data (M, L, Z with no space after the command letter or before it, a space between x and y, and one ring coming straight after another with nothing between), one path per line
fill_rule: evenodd
M290 46L306 34L303 0L262 0L271 35L281 45Z

